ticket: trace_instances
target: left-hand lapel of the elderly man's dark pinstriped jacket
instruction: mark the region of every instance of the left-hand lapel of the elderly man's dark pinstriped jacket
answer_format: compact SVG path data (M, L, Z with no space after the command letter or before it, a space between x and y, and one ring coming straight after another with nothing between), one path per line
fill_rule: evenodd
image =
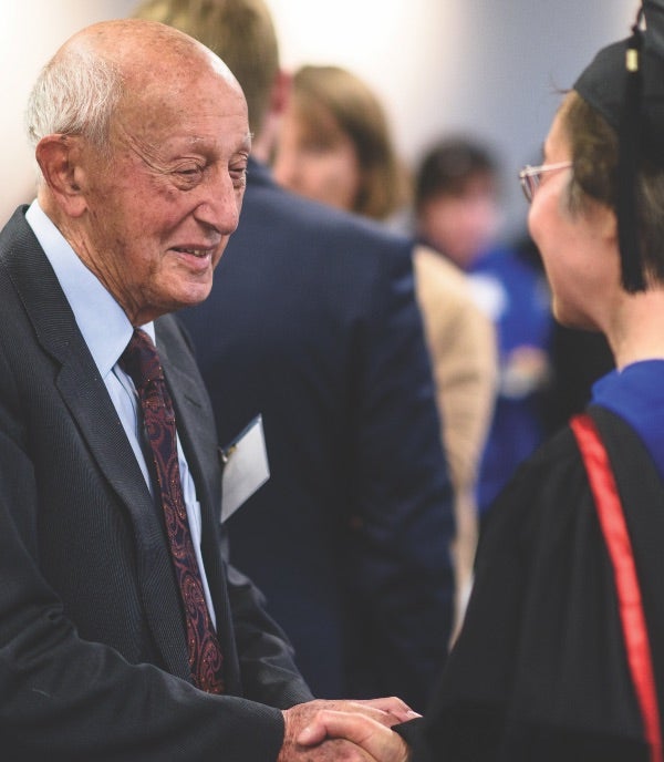
M173 614L180 610L180 601L162 517L55 274L22 215L17 215L10 223L17 231L14 245L3 265L39 343L60 364L55 383L63 402L132 522L138 585L154 641L168 671L189 680L184 620Z

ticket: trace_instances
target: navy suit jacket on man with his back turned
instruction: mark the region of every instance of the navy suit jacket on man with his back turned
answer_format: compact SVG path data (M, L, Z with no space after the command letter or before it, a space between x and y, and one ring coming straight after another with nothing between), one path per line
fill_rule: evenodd
M446 655L453 526L412 244L252 161L211 296L181 312L220 441L262 413L271 478L229 522L320 697L423 706Z

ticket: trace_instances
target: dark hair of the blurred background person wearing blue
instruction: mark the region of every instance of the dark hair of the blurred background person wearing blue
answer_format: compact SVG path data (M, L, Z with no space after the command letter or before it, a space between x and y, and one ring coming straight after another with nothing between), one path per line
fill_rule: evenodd
M491 153L465 137L449 137L430 148L415 175L415 209L436 196L460 196L476 177L495 179L498 172Z

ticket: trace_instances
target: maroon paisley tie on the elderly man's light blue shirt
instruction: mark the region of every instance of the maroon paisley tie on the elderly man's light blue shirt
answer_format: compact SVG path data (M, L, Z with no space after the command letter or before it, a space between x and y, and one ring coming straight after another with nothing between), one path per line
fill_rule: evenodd
M120 367L134 381L143 409L143 421L153 452L173 566L185 607L189 668L194 684L208 693L221 693L222 655L206 604L189 532L177 461L175 413L159 356L145 331L134 330L132 340L120 358Z

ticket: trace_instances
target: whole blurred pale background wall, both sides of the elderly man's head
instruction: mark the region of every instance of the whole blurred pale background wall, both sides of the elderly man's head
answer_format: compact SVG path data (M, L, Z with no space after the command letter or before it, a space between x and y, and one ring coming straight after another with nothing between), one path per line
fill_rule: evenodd
M538 156L558 104L603 44L625 37L635 0L268 0L288 68L340 63L372 84L404 157L414 162L449 130L489 141L500 154L507 227L526 208L515 181ZM32 193L22 111L32 80L76 29L126 16L134 0L21 0L0 28L4 96L0 138L9 169L0 223Z

